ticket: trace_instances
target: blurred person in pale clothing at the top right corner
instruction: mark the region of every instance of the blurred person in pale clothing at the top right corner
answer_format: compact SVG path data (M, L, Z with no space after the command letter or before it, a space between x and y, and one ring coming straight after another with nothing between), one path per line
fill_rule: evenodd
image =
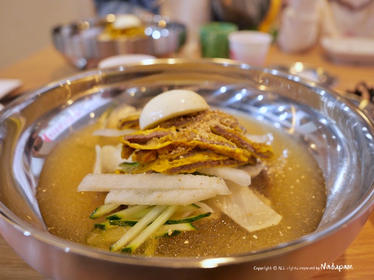
M321 36L374 37L374 0L287 0L277 43L285 52L300 52Z

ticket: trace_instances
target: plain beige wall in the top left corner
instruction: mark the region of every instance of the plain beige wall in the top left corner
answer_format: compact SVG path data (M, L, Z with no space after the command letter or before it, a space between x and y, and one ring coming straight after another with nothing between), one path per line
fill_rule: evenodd
M93 16L92 1L0 0L0 68L51 45L53 26Z

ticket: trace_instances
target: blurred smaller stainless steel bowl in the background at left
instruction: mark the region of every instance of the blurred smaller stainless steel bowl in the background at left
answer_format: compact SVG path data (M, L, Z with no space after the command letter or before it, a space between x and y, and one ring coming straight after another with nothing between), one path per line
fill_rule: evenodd
M185 43L186 27L177 22L167 22L157 15L139 16L146 27L141 36L103 39L101 35L113 17L115 15L56 26L52 29L53 44L70 63L88 69L96 67L100 60L117 54L168 57Z

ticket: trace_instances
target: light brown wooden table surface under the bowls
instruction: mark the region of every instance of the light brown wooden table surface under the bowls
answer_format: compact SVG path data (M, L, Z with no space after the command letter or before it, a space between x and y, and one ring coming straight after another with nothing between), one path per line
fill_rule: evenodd
M328 73L337 77L333 87L339 91L354 89L359 81L374 83L374 67L363 65L344 65L332 63L322 55L318 47L298 54L286 54L272 46L266 60L266 66L282 65L301 61L315 66L322 66ZM21 79L23 85L10 96L22 94L41 87L53 80L77 73L79 69L68 64L57 51L49 46L34 55L9 67L0 69L0 78ZM354 242L334 261L335 264L351 265L348 270L324 270L315 275L313 280L348 280L374 279L374 212L371 213ZM0 279L45 279L35 271L6 243L0 236Z

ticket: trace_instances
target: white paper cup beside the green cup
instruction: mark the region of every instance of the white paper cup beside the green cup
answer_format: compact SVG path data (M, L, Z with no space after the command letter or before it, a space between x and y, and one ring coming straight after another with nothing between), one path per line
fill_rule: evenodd
M260 31L240 30L229 34L230 58L252 65L265 63L273 37Z

